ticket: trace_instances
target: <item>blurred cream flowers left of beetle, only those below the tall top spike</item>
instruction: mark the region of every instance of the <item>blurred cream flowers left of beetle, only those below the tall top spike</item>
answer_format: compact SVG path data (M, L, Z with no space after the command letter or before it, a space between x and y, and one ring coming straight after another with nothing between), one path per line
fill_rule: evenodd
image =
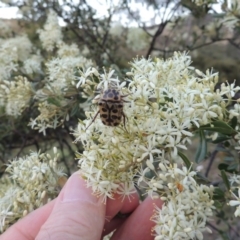
M91 65L93 65L91 61L81 56L54 58L46 63L47 84L35 95L39 102L39 115L29 123L33 129L46 134L47 128L55 129L64 122L64 119L69 118L69 109L74 101L71 96L78 95L74 85L77 69L85 69Z

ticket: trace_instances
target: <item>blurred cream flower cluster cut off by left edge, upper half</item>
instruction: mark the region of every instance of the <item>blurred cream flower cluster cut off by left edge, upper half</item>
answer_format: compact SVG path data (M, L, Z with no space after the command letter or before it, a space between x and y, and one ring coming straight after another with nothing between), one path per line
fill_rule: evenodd
M5 109L6 115L18 117L34 95L31 82L24 76L26 73L41 72L42 59L32 54L33 47L26 36L9 38L1 43L0 106Z

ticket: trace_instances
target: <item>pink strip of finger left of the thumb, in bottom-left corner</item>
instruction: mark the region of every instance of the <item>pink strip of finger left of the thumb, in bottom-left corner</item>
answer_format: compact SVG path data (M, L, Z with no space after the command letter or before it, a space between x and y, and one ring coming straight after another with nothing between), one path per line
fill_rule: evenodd
M55 200L47 203L41 208L29 213L26 217L16 222L8 230L0 236L0 240L18 239L18 240L33 240L39 232L41 226L45 223Z

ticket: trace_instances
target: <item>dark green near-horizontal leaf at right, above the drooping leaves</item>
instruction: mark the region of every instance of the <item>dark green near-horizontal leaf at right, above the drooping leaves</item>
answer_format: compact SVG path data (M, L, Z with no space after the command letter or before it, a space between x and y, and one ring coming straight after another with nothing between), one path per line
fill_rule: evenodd
M199 129L201 130L207 130L207 131L212 131L212 132L218 132L222 133L225 135L232 135L236 133L236 131L227 123L223 121L214 121L210 124L201 126Z

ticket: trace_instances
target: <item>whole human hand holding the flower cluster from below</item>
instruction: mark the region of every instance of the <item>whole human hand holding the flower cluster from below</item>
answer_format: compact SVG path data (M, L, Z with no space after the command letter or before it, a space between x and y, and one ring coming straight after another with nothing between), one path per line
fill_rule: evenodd
M123 201L115 195L104 204L75 173L56 199L12 225L0 240L99 240L114 229L112 240L150 240L154 238L150 218L155 206L161 205L161 200L150 198L139 204L137 194ZM119 212L131 214L120 218Z

